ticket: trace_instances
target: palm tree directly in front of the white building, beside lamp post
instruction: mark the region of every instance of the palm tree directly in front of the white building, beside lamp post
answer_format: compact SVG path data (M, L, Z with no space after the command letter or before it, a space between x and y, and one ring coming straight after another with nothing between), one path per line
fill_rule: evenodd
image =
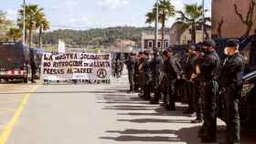
M148 24L152 24L155 22L156 17L156 5L152 9L151 12L146 14L146 22ZM160 0L158 5L158 13L159 13L159 22L161 23L161 35L162 35L162 48L165 47L165 22L169 17L173 17L176 15L175 6L171 4L169 0Z

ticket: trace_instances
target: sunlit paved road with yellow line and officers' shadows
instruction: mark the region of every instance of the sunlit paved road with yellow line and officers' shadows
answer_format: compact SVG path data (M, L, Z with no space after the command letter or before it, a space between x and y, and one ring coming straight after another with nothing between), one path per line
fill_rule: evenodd
M3 138L6 144L200 143L199 125L189 123L184 106L167 112L148 105L125 93L125 78L111 86L39 85L30 96L27 92L35 85L1 85L0 128L5 136L0 143ZM16 111L23 108L21 102L24 109ZM219 139L224 129L219 121ZM255 141L243 136L242 144Z

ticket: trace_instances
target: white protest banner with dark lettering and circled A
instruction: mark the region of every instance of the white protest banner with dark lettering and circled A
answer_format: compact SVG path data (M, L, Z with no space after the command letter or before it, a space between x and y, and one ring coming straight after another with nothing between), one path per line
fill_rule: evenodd
M110 84L112 75L111 54L65 53L53 55L44 53L41 64L41 78L44 80L84 80Z

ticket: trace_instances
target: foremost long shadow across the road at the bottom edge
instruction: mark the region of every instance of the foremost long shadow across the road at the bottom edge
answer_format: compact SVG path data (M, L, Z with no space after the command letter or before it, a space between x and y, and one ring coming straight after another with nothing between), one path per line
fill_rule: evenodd
M112 139L115 141L147 141L147 142L186 142L187 144L201 144L200 140L197 138L197 131L199 126L192 127L192 128L184 128L178 130L172 129L125 129L123 131L118 130L108 130L107 133L118 133L121 136L119 137L101 137L100 139ZM219 127L218 129L223 129ZM224 131L221 130L221 133ZM169 137L160 137L160 136L153 136L153 137L139 137L137 135L144 135L144 134L155 134L155 135L169 135ZM133 136L136 135L136 136ZM218 138L222 141L223 135L219 135Z

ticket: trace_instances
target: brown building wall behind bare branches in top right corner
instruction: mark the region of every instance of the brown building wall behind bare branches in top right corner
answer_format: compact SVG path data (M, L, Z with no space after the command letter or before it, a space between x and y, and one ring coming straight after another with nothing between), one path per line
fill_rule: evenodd
M244 36L247 26L236 13L235 6L245 20L250 11L251 2L256 0L212 0L212 36L213 37L240 37ZM250 35L256 29L256 5L252 12L252 27Z

